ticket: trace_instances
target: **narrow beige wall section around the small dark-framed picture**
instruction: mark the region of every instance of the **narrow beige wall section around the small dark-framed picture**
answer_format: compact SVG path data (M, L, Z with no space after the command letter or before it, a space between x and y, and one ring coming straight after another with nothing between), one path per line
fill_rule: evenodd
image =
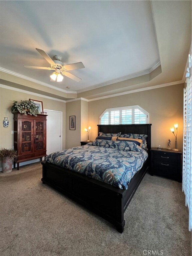
M75 116L75 130L69 129L69 117ZM81 101L66 103L66 149L80 146L81 141Z

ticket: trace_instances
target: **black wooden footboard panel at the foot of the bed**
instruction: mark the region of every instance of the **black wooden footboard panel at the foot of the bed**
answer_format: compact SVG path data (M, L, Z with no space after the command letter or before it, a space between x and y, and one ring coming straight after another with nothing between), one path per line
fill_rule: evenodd
M122 233L125 226L122 189L82 176L62 167L43 165L42 182L100 215ZM109 188L108 188L109 186Z

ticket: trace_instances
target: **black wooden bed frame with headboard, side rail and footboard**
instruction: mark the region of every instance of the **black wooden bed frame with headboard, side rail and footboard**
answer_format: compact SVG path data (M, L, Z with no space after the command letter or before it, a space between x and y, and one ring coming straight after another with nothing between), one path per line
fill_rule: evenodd
M98 125L98 133L146 134L148 137L148 158L143 167L134 175L128 189L120 189L104 182L83 176L60 166L42 162L42 182L72 198L92 212L100 215L122 233L125 220L124 212L135 194L150 164L151 124L143 125Z

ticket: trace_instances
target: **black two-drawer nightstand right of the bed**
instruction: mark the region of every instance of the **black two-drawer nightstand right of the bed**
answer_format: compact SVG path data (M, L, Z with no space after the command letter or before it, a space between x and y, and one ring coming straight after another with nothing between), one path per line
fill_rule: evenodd
M181 155L182 152L180 151L152 148L150 174L181 182Z

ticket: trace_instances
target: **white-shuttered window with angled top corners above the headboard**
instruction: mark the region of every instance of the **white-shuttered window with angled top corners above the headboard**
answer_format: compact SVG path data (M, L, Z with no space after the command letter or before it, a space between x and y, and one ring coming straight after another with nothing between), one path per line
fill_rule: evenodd
M99 117L100 125L131 125L149 123L149 113L140 106L106 109Z

